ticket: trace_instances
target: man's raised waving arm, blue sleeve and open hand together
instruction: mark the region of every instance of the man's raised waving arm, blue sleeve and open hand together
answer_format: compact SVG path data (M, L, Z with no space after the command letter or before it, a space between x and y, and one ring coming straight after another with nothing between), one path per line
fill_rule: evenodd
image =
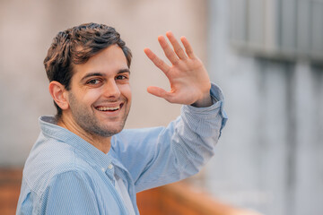
M167 127L123 130L114 136L110 154L129 171L135 191L166 185L196 174L214 155L227 116L223 93L211 84L205 66L188 40L179 45L171 32L158 38L171 65L145 48L145 54L168 77L170 91L148 87L148 92L170 103L183 104L180 116Z

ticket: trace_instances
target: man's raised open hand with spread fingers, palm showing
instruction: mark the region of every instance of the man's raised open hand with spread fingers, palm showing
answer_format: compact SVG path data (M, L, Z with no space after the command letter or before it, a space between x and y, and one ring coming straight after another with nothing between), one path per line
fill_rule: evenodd
M144 53L153 61L153 64L165 73L170 82L170 91L155 86L148 87L147 91L154 96L166 99L170 103L194 107L211 106L210 78L204 64L195 56L188 39L180 38L185 48L184 51L171 31L168 31L166 36L173 48L170 47L163 36L159 36L158 41L171 65L162 61L148 47L144 48Z

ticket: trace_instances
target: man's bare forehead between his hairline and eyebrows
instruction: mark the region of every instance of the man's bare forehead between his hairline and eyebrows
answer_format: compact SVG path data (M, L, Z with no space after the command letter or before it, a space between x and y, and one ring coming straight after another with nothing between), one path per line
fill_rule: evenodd
M104 48L98 54L89 58L84 64L74 64L74 76L86 73L118 73L128 69L127 58L118 45Z

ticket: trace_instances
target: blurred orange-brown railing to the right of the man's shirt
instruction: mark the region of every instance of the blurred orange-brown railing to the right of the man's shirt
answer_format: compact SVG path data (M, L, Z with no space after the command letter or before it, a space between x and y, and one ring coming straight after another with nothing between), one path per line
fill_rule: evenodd
M209 194L179 182L137 193L141 215L259 215L216 201Z

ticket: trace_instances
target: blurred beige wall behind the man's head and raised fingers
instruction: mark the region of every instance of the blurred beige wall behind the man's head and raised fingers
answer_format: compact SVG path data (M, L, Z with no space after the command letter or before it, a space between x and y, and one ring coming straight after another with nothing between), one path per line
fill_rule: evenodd
M39 134L38 117L55 114L42 65L59 30L83 22L114 26L133 51L133 105L127 127L167 125L179 106L153 98L149 85L168 81L144 56L162 55L157 36L188 37L206 58L206 0L0 1L0 166L22 165Z

